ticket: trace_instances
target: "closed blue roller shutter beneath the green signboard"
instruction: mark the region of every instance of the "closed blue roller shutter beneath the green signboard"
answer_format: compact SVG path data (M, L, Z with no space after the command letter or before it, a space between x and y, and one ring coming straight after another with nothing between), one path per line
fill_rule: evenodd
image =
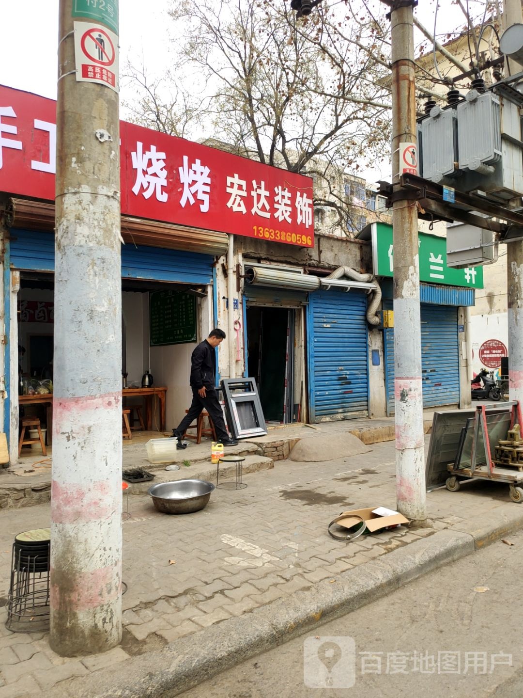
M392 308L392 301L384 304ZM421 377L423 407L455 405L460 402L460 354L457 308L422 303ZM387 414L394 413L394 330L384 330Z

